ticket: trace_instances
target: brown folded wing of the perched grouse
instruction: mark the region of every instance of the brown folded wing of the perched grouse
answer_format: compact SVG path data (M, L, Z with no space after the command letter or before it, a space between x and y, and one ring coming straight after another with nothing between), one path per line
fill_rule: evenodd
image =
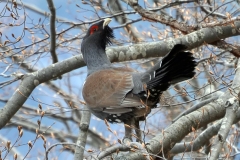
M83 98L94 110L102 110L141 105L136 95L128 93L134 88L132 70L111 68L96 71L89 75L83 86ZM128 94L128 96L127 96ZM128 109L122 109L128 112Z

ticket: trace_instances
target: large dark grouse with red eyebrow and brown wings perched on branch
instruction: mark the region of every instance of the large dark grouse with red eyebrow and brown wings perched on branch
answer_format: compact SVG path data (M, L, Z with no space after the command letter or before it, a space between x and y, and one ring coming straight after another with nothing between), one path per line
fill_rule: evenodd
M145 72L129 67L116 67L107 57L106 47L115 38L108 26L110 18L92 24L81 44L87 77L82 96L96 117L110 123L124 123L125 137L132 141L135 127L141 140L139 121L156 108L160 96L170 85L191 79L197 65L188 47L176 44L171 51Z

